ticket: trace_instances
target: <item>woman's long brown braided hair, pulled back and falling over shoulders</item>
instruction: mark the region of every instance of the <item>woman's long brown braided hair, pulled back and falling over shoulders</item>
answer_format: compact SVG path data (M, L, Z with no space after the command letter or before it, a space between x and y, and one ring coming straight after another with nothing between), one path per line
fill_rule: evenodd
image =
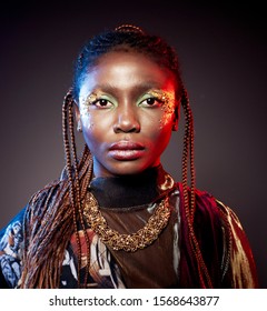
M150 58L176 78L176 99L180 100L186 124L182 151L182 195L189 241L196 258L202 288L211 288L210 277L194 231L195 167L194 122L187 91L181 81L178 57L172 47L160 37L150 36L138 27L122 24L115 30L92 37L81 49L72 87L62 106L62 134L66 168L59 181L36 193L28 204L24 221L23 269L21 288L58 288L65 251L72 232L78 245L78 284L87 284L87 273L81 280L81 241L78 229L83 231L87 245L87 268L90 264L90 243L82 218L81 201L92 177L92 157L87 146L78 159L73 130L73 107L78 102L80 86L86 74L98 64L99 58L111 51L134 51ZM189 160L189 161L188 161ZM188 168L190 187L188 187ZM188 191L190 188L190 191ZM79 228L78 228L79 223Z

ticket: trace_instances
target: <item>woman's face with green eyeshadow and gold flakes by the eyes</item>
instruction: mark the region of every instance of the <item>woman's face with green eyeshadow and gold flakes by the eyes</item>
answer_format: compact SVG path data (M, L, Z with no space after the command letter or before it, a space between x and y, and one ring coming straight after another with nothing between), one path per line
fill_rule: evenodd
M172 74L134 52L109 52L85 77L77 120L96 177L158 165L178 122Z

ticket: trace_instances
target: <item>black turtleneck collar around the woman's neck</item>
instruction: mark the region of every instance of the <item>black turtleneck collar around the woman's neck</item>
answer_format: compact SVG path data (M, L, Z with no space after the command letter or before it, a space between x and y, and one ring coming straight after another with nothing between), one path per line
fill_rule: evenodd
M172 187L160 164L137 175L95 178L89 189L102 208L129 208L148 204Z

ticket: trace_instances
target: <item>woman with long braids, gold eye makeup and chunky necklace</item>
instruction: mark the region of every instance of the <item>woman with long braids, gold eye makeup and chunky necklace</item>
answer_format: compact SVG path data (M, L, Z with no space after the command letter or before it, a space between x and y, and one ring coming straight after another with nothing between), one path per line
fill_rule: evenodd
M182 181L175 182L160 157L180 106ZM86 142L80 159L73 114ZM177 54L161 38L129 24L93 37L62 120L66 168L2 230L1 287L257 287L239 220L195 187L191 110Z

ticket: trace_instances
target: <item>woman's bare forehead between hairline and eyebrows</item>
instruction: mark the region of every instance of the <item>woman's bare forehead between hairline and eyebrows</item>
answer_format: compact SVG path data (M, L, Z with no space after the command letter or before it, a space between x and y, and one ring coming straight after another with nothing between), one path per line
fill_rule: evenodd
M174 88L172 72L140 53L109 52L87 72L82 87L105 90Z

